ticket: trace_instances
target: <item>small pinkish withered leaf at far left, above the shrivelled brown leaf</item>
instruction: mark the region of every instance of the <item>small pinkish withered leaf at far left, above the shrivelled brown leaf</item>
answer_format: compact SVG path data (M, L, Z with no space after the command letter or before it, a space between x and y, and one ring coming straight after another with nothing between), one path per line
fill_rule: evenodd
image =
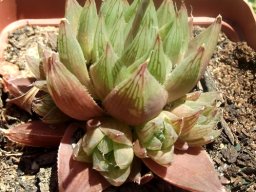
M30 86L34 81L34 78L3 78L4 91L9 92L14 97L19 97L31 88Z

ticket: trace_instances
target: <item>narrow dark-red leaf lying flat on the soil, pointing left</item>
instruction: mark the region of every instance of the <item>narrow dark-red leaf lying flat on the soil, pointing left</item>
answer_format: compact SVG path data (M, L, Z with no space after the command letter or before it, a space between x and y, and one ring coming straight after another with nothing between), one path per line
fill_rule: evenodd
M32 121L10 129L0 129L0 133L21 145L56 147L59 145L65 129L66 126L63 124L49 125L41 121Z

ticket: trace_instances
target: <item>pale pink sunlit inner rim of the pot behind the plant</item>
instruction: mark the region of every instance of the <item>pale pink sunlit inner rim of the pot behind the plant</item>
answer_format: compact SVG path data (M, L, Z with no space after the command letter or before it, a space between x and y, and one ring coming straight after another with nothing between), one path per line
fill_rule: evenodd
M53 18L53 19L20 19L14 21L7 25L0 33L0 61L3 61L2 55L3 51L7 46L8 35L25 25L38 25L38 26L57 26L60 23L62 18ZM215 18L213 17L193 17L193 24L206 27L213 23ZM233 41L239 41L239 35L235 31L235 29L227 22L222 21L222 31L226 33L226 35Z

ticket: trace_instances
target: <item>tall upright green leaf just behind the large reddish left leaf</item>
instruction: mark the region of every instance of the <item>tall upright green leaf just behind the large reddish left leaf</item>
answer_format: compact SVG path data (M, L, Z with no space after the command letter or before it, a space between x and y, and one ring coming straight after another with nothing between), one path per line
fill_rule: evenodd
M86 68L86 61L76 36L72 32L71 25L66 20L62 20L60 23L58 52L60 61L65 67L89 89L91 84Z

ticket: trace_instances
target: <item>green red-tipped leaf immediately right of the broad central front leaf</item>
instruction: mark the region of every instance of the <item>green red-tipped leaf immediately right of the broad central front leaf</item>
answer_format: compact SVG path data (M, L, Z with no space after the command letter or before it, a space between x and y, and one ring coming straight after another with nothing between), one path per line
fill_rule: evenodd
M184 96L196 85L204 50L204 47L200 47L197 53L185 58L168 77L165 88L169 93L169 102Z

